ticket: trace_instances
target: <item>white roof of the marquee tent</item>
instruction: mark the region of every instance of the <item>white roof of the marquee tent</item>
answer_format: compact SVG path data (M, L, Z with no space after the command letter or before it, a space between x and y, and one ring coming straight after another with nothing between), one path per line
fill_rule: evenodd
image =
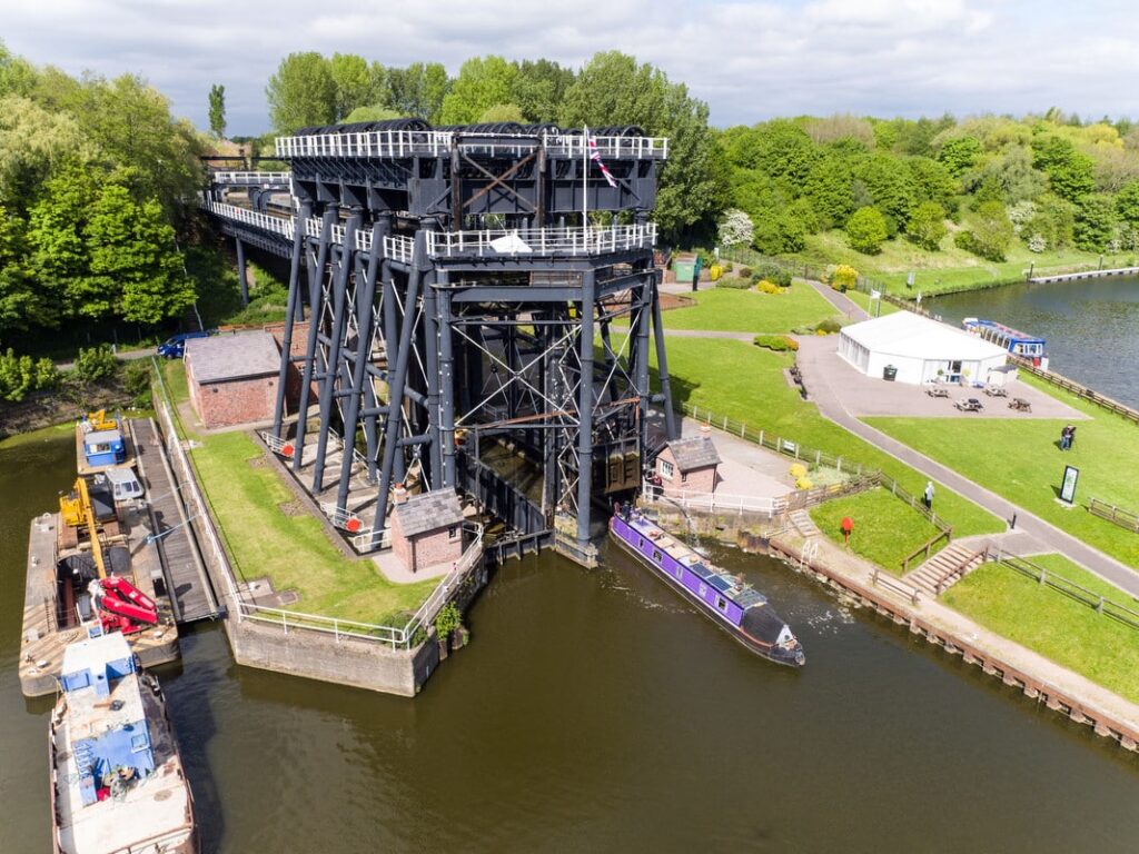
M842 334L886 355L940 361L974 361L1007 355L1002 347L910 311L843 327Z

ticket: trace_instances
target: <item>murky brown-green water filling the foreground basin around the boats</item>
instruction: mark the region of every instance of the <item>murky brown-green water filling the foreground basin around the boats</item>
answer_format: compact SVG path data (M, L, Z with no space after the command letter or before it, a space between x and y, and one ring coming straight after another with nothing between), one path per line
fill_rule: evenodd
M46 852L50 701L16 663L27 523L69 441L0 446L0 851ZM415 700L232 664L158 671L210 852L1133 852L1139 761L775 561L798 631L748 655L623 555L510 563Z

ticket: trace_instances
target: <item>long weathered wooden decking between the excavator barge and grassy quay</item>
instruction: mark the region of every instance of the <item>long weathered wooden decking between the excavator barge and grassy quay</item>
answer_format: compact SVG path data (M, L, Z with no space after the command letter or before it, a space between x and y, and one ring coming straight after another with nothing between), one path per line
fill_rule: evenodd
M179 623L216 617L220 614L218 598L210 585L191 526L186 524L186 509L158 430L150 419L133 419L128 425L133 435L139 475L146 486L146 500L158 537L158 555L174 617Z

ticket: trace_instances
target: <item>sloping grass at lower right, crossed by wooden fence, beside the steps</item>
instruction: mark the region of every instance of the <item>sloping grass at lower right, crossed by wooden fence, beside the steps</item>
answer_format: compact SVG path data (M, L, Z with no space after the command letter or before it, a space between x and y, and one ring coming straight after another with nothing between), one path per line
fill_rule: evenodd
M1120 605L1131 598L1062 555L1030 558ZM1139 631L1008 567L985 564L942 601L1010 640L1139 703Z

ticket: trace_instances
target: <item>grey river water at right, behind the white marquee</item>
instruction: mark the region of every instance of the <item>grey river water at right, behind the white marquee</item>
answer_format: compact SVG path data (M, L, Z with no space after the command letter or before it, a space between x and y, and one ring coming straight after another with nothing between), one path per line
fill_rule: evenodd
M1139 409L1139 279L1107 277L931 297L951 323L995 320L1048 342L1050 368Z

